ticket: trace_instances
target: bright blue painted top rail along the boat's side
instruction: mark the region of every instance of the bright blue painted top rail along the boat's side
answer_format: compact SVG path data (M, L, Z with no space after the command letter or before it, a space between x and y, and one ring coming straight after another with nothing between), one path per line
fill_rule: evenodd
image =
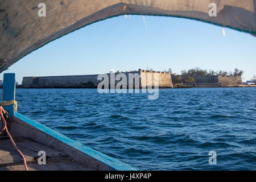
M88 155L106 165L111 167L113 170L118 170L118 171L135 171L138 170L137 168L134 168L130 166L129 164L120 162L117 159L114 159L108 155L102 154L99 151L93 150L92 148L85 146L84 144L81 144L80 142L77 142L76 140L69 139L65 137L64 135L58 133L57 131L54 131L52 129L49 129L48 127L35 122L27 117L24 117L22 114L15 113L15 117L19 118L23 122L27 123L28 125L31 125L35 127L36 129L43 131L44 133L50 135L51 137L54 137L61 142L68 144L69 146L76 148L77 150L83 152L85 155Z

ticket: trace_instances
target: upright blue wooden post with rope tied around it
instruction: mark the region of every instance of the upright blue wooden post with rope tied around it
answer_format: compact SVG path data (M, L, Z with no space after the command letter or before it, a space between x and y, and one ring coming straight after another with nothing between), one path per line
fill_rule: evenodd
M15 73L3 74L3 101L15 100L15 88ZM3 109L8 111L9 118L15 114L14 105L4 106Z

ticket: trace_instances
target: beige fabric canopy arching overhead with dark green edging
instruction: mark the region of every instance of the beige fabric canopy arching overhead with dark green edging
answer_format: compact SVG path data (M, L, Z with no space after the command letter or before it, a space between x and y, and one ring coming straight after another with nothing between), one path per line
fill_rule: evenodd
M42 3L45 9L39 6L39 1L0 0L0 72L60 36L123 14L189 18L256 34L255 0L44 0Z

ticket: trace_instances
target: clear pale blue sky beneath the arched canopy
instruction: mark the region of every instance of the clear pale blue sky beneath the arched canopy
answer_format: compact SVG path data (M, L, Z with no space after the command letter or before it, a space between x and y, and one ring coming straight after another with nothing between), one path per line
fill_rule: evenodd
M8 71L23 76L87 75L154 69L245 71L256 75L256 38L250 34L195 20L132 15L80 28L30 53ZM3 73L0 78L2 80Z

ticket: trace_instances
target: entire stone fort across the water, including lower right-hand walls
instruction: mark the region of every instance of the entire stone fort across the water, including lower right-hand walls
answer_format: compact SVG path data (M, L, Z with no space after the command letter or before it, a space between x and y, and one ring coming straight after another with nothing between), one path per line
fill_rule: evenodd
M174 78L180 75L170 74L170 72L147 71L139 69L138 71L122 72L127 76L127 84L129 74L138 75L139 80L133 78L134 88L148 88L155 86L155 78L158 76L159 88L173 88L175 86ZM109 78L110 88L110 75L106 73ZM114 74L115 76L118 73ZM97 88L102 80L98 80L99 75L73 75L73 76L42 76L42 77L23 77L22 85L20 88ZM185 78L185 77L184 77ZM226 87L242 85L241 76L204 76L193 77L195 84L184 84L184 86L195 87ZM117 85L120 80L115 80L114 84ZM128 88L128 85L127 85Z

